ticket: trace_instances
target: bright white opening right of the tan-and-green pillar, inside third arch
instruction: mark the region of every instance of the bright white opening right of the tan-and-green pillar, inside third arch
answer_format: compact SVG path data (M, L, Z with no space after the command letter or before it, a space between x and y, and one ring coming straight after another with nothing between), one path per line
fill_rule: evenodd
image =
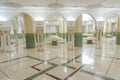
M95 35L95 21L89 14L82 14L83 44L93 44Z

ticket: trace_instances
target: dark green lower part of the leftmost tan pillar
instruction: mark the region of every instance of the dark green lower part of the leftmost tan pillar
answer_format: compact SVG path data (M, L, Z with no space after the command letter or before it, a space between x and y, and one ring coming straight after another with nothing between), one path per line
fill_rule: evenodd
M26 48L35 48L35 34L26 33Z

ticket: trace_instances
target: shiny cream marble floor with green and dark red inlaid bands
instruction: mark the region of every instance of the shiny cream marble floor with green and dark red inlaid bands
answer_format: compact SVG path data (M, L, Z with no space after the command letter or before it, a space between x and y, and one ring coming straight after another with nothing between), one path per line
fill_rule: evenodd
M68 49L66 44L26 49L20 40L0 52L0 80L120 80L120 46L114 39Z

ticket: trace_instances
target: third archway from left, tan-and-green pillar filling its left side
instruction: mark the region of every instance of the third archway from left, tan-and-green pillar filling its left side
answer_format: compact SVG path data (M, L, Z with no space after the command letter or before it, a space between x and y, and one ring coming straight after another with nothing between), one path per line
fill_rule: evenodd
M86 39L88 44L94 41L96 32L94 18L88 14L80 15L75 23L75 46L81 47Z

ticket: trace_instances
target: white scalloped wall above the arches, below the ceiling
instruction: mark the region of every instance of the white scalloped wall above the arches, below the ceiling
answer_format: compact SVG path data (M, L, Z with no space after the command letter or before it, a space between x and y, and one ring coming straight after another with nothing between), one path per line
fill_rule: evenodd
M0 8L0 21L7 21L13 16L26 12L32 16L35 21L43 21L52 13L58 12L62 14L67 21L75 21L82 13L87 13L94 17L96 21L104 21L113 13L120 16L120 9L83 9L83 8L63 8L59 10L50 9L50 8Z

